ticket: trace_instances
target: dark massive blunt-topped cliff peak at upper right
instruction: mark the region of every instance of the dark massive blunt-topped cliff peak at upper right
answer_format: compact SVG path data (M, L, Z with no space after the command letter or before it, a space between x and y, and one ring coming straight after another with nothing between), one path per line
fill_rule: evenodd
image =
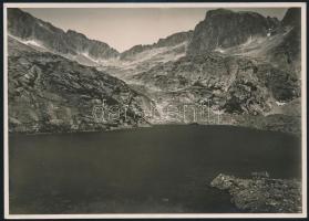
M266 36L279 24L277 19L265 18L255 12L212 10L207 12L205 20L195 27L188 54L239 45L251 36Z

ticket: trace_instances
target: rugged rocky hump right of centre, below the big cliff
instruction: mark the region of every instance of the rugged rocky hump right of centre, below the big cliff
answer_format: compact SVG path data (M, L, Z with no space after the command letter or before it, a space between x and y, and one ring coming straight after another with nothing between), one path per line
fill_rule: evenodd
M148 88L225 113L264 114L275 102L300 96L299 81L268 63L219 53L184 56L134 76ZM166 98L165 98L166 102ZM179 103L182 101L178 101Z

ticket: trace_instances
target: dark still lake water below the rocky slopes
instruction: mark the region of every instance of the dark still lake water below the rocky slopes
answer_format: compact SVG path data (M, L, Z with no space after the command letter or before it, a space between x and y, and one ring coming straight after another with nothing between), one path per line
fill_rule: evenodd
M10 213L239 212L218 173L300 178L299 138L230 126L11 135Z

